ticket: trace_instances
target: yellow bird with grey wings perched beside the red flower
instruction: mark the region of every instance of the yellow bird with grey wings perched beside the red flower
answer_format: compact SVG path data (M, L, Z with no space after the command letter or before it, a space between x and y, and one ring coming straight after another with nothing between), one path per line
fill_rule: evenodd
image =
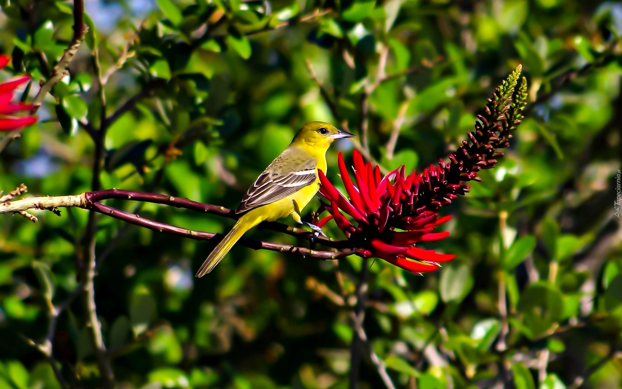
M326 151L330 145L336 139L353 136L322 121L313 121L302 126L287 149L259 174L246 191L236 210L236 213L242 215L203 262L197 271L197 277L210 273L225 258L236 241L261 222L271 222L292 215L296 222L312 228L316 236L324 235L322 228L302 220L300 211L309 204L320 188L317 171L326 172Z

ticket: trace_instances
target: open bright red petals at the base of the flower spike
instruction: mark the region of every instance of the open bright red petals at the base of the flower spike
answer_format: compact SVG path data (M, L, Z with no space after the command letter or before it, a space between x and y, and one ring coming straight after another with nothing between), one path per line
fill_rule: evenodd
M451 216L439 218L437 212L415 206L419 186L425 182L424 177L416 172L405 177L404 166L382 177L379 167L372 167L371 162L365 164L360 152L355 150L353 159L356 184L350 178L343 155L339 153L341 180L350 200L335 188L322 171L319 172L320 193L330 200L330 204L325 206L330 215L320 220L318 227L335 220L346 237L362 247L356 251L358 255L378 257L415 274L434 271L440 267L439 263L455 258L455 255L415 247L415 243L441 240L449 235L449 232L434 233L433 230ZM424 176L428 175L426 169ZM449 197L456 196L450 194ZM356 220L358 227L340 210Z

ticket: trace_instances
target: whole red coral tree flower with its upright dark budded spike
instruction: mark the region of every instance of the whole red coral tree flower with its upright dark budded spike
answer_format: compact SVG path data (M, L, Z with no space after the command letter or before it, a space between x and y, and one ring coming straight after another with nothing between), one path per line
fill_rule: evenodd
M483 115L477 116L475 131L467 134L470 143L463 141L449 155L447 164L440 159L437 166L430 165L422 173L412 172L409 176L404 175L405 167L401 166L383 177L378 166L365 163L355 150L352 180L340 153L339 171L348 199L320 171L320 193L330 201L325 205L330 215L320 220L318 227L335 220L357 255L378 257L416 274L434 271L441 263L453 260L454 255L416 245L449 235L434 232L451 218L439 217L439 208L465 195L470 189L466 182L480 181L478 172L493 168L496 158L503 156L496 150L508 147L510 131L521 124L526 106L525 78L516 88L520 73L521 66L496 88Z

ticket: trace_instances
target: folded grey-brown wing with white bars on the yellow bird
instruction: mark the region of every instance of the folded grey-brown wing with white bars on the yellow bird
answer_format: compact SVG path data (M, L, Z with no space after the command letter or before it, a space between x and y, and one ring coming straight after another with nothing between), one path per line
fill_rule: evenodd
M259 174L246 191L236 213L281 200L317 180L317 161L298 150L286 149Z

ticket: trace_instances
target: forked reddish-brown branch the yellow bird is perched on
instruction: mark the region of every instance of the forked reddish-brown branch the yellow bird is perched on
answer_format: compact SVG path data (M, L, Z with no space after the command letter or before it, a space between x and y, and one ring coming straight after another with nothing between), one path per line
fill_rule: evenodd
M198 212L213 213L224 217L235 218L233 210L226 209L225 207L218 207L211 204L203 204L181 197L174 197L169 195L151 194L143 192L133 192L130 190L108 189L100 190L97 192L85 192L79 195L68 196L48 196L48 197L27 197L26 199L16 200L9 203L0 204L0 214L9 212L20 212L22 210L39 209L39 210L56 210L58 208L81 208L88 209L94 212L103 213L109 217L118 218L124 222L128 222L139 227L149 228L158 232L166 232L172 235L177 235L184 238L190 238L194 240L215 240L221 239L221 235L211 232L198 232L194 230L188 230L186 228L175 227L166 223L155 222L147 218L142 218L139 215L133 215L131 213L123 212L107 205L100 204L101 200L106 199L126 199L136 200L141 202L152 202L156 204L172 205L174 207L195 210ZM270 228L277 232L287 233L296 237L310 238L312 233L302 228L289 227L282 223L270 222L263 223L263 227ZM348 255L356 254L356 250L349 248L351 243L348 241L330 240L327 238L318 238L318 243L326 246L339 247L338 251L319 251L311 250L309 248L297 247L291 245L283 245L280 243L272 243L268 241L259 241L248 238L243 238L239 243L243 246L253 248L254 250L271 250L281 253L290 253L293 255L317 258L321 260L335 260L337 258L343 258Z

